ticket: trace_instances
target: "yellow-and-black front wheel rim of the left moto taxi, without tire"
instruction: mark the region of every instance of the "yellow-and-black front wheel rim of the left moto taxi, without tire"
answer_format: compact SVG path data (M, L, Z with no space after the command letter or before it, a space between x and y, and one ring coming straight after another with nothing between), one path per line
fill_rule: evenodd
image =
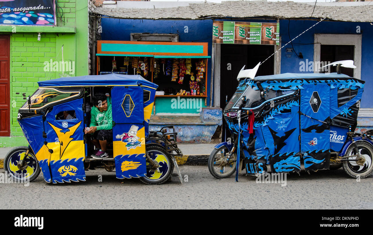
M29 152L27 158L25 159L25 150L18 150L13 152L8 161L7 169L8 173L12 175L13 178L18 180L28 180L32 177L33 174L37 172L37 159L36 157ZM26 164L23 168L19 169L17 163L21 160L26 161Z

